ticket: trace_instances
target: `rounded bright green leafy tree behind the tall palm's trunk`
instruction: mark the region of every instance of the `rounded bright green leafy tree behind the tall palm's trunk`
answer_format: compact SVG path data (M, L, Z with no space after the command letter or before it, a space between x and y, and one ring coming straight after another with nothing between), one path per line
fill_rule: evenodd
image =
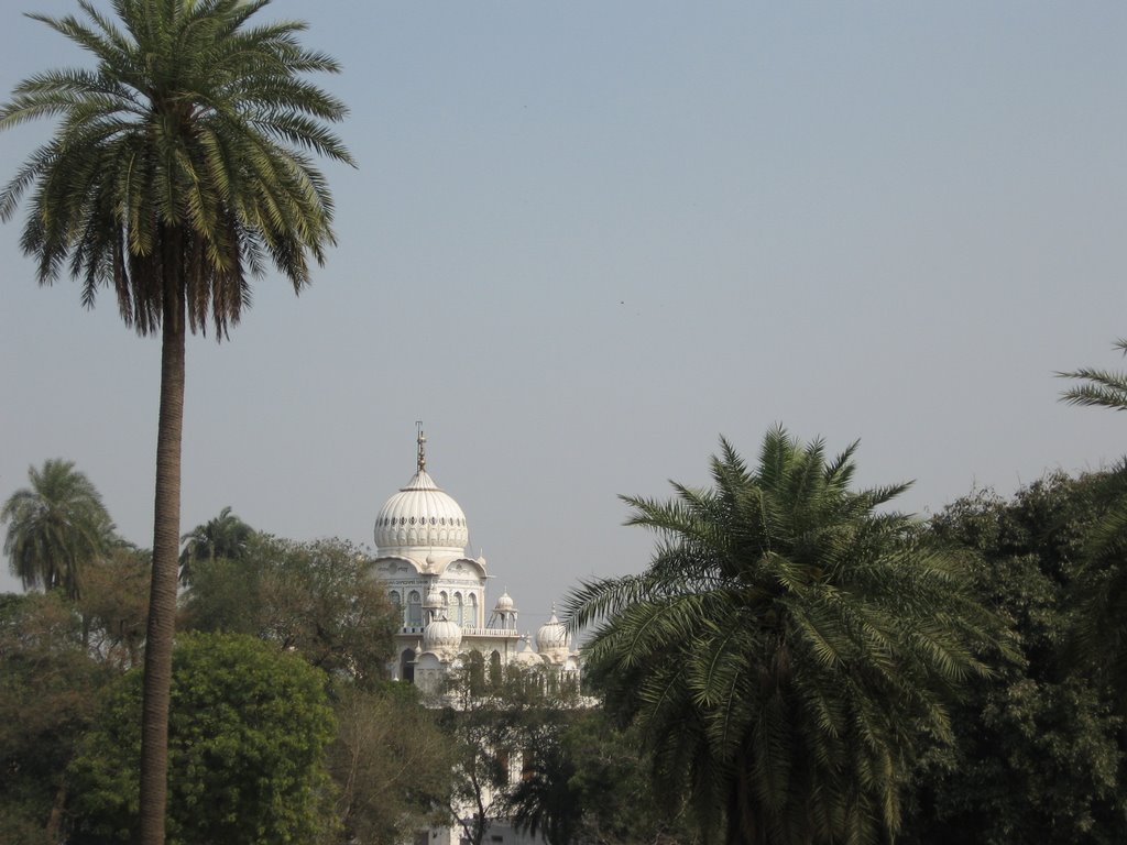
M168 838L311 843L326 833L325 675L250 637L177 638L169 723ZM70 767L74 845L130 842L139 824L142 699L131 671Z

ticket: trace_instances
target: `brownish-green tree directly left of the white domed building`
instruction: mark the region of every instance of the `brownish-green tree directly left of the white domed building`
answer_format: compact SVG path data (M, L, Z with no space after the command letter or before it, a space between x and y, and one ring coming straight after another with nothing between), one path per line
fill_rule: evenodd
M185 617L197 630L270 640L362 686L384 677L398 619L356 546L267 535L254 535L241 560L197 561Z

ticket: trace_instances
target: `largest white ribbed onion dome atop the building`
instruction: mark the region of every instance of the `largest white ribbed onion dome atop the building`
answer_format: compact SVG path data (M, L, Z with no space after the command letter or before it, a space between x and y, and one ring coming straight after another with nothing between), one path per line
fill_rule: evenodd
M380 553L414 548L460 554L469 539L462 508L424 469L388 499L375 517L375 544Z

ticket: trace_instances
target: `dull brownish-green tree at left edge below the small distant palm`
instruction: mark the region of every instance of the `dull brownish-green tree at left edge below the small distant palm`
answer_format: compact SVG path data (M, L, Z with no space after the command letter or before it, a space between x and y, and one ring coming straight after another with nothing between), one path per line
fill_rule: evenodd
M60 592L0 595L0 842L61 842L66 764L114 677Z

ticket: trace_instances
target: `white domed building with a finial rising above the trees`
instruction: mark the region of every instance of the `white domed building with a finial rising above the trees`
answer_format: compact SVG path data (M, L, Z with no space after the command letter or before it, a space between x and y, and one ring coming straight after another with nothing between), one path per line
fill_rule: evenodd
M426 471L420 428L415 474L375 517L372 573L402 615L391 677L438 692L450 671L477 652L490 671L512 664L577 682L579 655L554 610L534 649L533 639L517 630L520 614L507 592L487 617L486 559L467 555L468 543L465 514Z

